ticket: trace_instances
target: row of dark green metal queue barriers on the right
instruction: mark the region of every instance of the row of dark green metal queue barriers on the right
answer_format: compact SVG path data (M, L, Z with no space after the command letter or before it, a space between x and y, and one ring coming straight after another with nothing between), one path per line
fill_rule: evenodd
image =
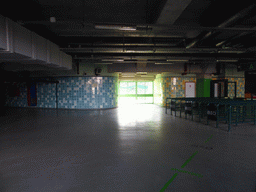
M169 101L169 102L168 102ZM167 109L170 108L172 112L182 112L187 115L191 115L191 120L194 120L194 116L198 116L199 122L205 116L207 117L207 124L209 120L216 121L216 127L219 127L219 123L224 121L228 123L228 131L231 129L231 124L238 125L238 123L253 122L256 124L256 101L245 100L244 98L235 99L219 99L219 98L167 98L166 99L166 114Z

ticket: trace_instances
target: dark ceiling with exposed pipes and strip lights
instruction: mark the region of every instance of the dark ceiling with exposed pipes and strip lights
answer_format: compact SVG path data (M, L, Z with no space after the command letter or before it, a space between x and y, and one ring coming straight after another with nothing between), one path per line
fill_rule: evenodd
M256 4L251 1L9 0L0 14L78 61L180 65L255 60Z

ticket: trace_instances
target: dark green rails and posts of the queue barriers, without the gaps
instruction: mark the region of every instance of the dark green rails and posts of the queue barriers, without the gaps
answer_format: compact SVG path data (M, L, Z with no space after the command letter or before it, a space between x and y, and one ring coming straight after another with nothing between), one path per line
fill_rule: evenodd
M168 102L171 100L171 102ZM210 105L214 105L216 107L216 127L218 128L219 122L222 120L225 120L226 123L228 123L228 131L231 129L232 124L232 117L236 117L235 124L244 123L246 120L249 119L249 122L253 120L254 124L256 124L256 100L246 100L245 98L234 98L234 99L219 99L219 98L210 98L210 97L193 97L193 98L166 98L166 114L167 109L170 107L171 114L172 111L175 110L175 116L176 111L180 111L180 117L181 113L185 112L185 118L187 118L188 111L185 109L186 104L183 106L182 103L185 102L192 102L191 105L191 115L192 120L194 115L199 115L199 121L201 121L201 117L203 117L204 110L207 111ZM198 106L196 108L193 108L194 102L198 103ZM168 106L170 104L170 106ZM174 105L174 106L173 106ZM221 106L225 106L225 109L223 111L223 108ZM251 106L252 108L250 111L246 112L246 108L248 106ZM184 109L183 109L184 107ZM232 111L232 108L235 109L235 112ZM194 113L194 110L198 110L198 112ZM242 115L238 117L238 110L242 110ZM250 114L247 116L247 113ZM209 124L209 114L205 113L207 115L207 124ZM224 115L223 115L224 114ZM242 117L242 121L241 118ZM240 120L239 120L240 119Z

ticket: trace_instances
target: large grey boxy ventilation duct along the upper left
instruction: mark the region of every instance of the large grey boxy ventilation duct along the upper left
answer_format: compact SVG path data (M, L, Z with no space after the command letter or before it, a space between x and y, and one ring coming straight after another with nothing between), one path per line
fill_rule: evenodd
M72 57L58 45L0 15L0 62L72 69Z

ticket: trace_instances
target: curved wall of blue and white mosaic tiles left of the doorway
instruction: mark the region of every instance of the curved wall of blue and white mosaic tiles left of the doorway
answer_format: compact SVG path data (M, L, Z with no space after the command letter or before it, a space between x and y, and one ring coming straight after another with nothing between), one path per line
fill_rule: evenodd
M45 79L49 80L49 79ZM117 77L59 77L51 78L59 81L58 108L71 109L97 109L117 107ZM26 87L25 87L26 89ZM8 106L27 106L27 93L25 100L20 97L10 98ZM56 108L56 84L37 83L37 107Z

